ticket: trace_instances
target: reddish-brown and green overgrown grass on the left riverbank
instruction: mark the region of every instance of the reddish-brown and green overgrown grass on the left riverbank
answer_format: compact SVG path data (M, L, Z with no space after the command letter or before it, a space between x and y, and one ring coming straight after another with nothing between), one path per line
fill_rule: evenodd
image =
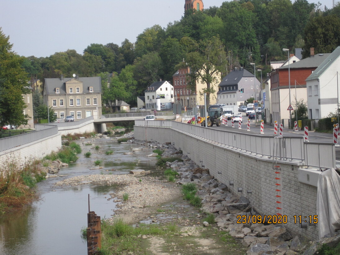
M36 198L32 188L45 179L38 169L39 161L29 162L23 167L13 158L7 158L0 166L0 215L20 209Z

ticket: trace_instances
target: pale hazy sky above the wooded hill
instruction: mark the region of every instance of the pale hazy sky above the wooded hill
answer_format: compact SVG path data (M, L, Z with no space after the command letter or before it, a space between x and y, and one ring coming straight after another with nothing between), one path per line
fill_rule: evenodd
M93 43L132 43L155 24L166 28L180 20L185 0L1 0L0 27L12 50L23 56L46 57L74 49L83 54ZM223 0L203 0L204 8ZM308 0L317 3L317 0ZM333 6L333 0L319 0Z

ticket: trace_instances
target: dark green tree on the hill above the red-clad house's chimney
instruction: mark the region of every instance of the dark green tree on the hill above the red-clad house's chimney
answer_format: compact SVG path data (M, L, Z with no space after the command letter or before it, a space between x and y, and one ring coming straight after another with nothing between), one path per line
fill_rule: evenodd
M304 30L303 57L310 55L311 47L314 47L314 54L332 52L340 45L339 28L340 18L334 15L312 18Z

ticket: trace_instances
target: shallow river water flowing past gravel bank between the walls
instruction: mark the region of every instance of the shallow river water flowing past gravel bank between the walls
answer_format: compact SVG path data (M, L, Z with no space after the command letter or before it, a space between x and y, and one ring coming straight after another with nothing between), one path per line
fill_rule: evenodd
M85 145L87 142L92 145ZM124 152L141 147L136 144L118 144L111 139L98 138L79 140L82 153L77 162L64 167L58 175L37 184L40 199L25 208L4 215L0 219L0 254L3 255L56 255L87 254L86 241L80 233L87 226L88 194L90 210L101 219L114 215L115 203L107 200L115 186L92 184L75 187L55 187L54 183L69 177L88 174L126 174L131 169L156 170L156 159L147 157L152 149L141 150L130 155ZM100 149L95 150L95 146ZM112 150L112 155L105 152ZM84 153L90 151L90 158ZM92 169L94 161L103 161L102 169ZM114 170L112 170L114 169ZM157 171L154 171L156 174Z

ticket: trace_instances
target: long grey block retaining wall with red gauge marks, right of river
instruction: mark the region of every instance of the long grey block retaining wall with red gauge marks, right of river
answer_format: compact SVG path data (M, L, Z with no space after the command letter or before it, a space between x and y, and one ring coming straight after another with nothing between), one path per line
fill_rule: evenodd
M317 225L300 228L300 224L294 224L294 215L302 215L303 219L316 215L317 201L317 187L298 181L298 166L280 164L283 202L278 205L275 197L277 176L271 160L219 146L170 128L134 126L134 137L138 140L174 143L196 164L209 168L210 174L226 184L232 192L247 197L262 216L275 215L276 207L280 206L283 215L287 215L287 224L283 225L292 234L300 234L308 239L319 238ZM234 185L230 186L229 181L233 181ZM238 192L238 188L243 191ZM247 190L252 193L247 193Z

